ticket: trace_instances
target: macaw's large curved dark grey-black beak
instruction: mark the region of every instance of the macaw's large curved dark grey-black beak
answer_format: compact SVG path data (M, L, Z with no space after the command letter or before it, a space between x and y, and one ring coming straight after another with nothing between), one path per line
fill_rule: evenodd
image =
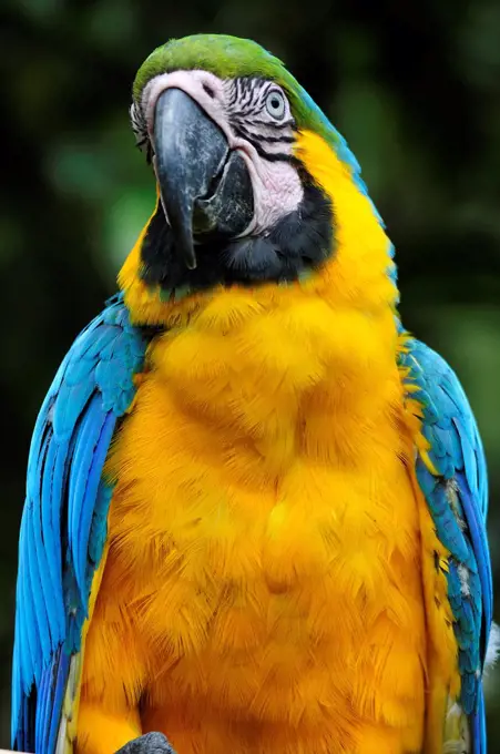
M177 253L194 269L194 237L234 237L248 226L254 214L252 180L218 125L180 89L167 89L157 99L154 153Z

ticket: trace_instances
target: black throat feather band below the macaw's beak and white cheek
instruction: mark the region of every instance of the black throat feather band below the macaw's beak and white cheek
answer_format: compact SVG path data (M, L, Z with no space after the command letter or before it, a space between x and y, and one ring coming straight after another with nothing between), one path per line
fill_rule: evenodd
M334 253L334 207L304 169L300 177L303 201L268 235L234 241L213 238L200 244L195 269L186 269L178 259L159 204L141 249L142 279L152 287L160 285L165 299L177 299L220 284L293 282L319 267Z

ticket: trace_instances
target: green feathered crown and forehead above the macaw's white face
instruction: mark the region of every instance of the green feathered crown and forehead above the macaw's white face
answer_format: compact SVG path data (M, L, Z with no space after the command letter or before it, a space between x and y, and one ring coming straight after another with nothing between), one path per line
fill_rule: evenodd
M133 95L140 99L146 83L160 73L200 69L222 79L259 75L286 91L299 129L308 129L338 147L339 134L280 60L248 39L224 34L194 34L156 48L139 69Z

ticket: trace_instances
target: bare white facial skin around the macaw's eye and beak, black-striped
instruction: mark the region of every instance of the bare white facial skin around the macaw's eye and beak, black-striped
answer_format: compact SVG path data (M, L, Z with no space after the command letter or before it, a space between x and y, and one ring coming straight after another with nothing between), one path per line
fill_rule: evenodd
M254 217L242 236L265 234L294 212L304 195L290 161L294 120L283 90L262 79L220 79L207 71L174 71L152 79L142 93L141 118L154 145L154 111L166 89L181 89L218 125L231 150L245 160L254 191Z

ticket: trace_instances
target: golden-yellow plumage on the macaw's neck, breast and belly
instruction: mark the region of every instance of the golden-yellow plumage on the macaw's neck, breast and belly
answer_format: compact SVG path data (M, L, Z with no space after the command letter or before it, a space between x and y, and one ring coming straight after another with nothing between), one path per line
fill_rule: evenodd
M309 281L162 303L141 238L120 274L133 322L166 329L108 460L82 706L129 710L126 737L140 700L182 754L420 752L456 672L389 241L319 136L296 153L335 207ZM90 727L79 748L111 751Z

